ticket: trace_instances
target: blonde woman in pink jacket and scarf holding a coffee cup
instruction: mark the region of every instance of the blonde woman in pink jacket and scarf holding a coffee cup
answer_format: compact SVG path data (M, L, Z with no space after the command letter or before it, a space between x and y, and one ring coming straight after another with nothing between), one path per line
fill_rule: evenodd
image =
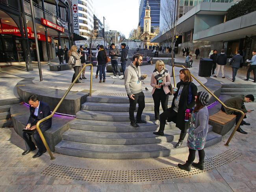
M154 111L155 111L155 124L157 125L160 120L160 102L163 111L168 108L168 98L170 90L168 86L171 85L171 77L167 69L165 69L165 64L162 60L156 61L155 70L151 76L151 86L153 87L152 96L154 100ZM166 122L167 123L167 120Z

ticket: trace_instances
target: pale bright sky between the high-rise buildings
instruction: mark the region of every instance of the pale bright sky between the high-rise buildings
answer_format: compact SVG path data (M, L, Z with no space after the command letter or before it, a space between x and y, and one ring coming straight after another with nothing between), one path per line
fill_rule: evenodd
M126 38L139 23L139 0L93 0L95 15L109 30L123 33Z

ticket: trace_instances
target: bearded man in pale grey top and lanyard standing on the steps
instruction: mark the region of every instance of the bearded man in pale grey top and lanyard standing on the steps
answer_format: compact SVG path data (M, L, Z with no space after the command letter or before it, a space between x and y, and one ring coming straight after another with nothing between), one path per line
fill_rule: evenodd
M141 114L145 108L145 96L141 89L141 80L147 78L147 75L141 76L140 65L142 63L142 55L135 54L132 57L131 64L126 68L124 72L124 87L127 92L130 108L129 116L131 121L131 126L138 128L138 123L146 124L146 121L141 120ZM136 104L139 104L136 122L134 119L134 111L136 109Z

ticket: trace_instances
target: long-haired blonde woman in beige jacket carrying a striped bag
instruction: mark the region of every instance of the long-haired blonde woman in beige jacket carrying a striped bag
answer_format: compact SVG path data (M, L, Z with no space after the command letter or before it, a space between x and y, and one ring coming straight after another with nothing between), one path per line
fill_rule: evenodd
M78 52L76 50L77 50L77 46L76 45L72 45L70 50L69 50L69 54L68 54L69 57L72 55L74 57L74 59L76 60L76 62L71 65L72 68L74 69L74 74L73 74L73 77L72 77L72 82L78 76L78 73L80 71L80 67L82 67L81 59L80 59L81 53L78 54ZM76 83L81 83L81 82L77 79Z

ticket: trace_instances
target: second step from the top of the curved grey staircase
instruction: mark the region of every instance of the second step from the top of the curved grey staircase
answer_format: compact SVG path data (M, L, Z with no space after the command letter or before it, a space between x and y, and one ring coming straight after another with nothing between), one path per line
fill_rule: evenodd
M169 101L168 108L171 107L172 101ZM96 103L96 102L85 102L82 104L83 110L92 110L92 111L113 111L113 112L129 112L129 103ZM136 111L138 109L138 104ZM154 103L145 103L145 108L143 111L153 111ZM160 106L160 110L162 107Z

